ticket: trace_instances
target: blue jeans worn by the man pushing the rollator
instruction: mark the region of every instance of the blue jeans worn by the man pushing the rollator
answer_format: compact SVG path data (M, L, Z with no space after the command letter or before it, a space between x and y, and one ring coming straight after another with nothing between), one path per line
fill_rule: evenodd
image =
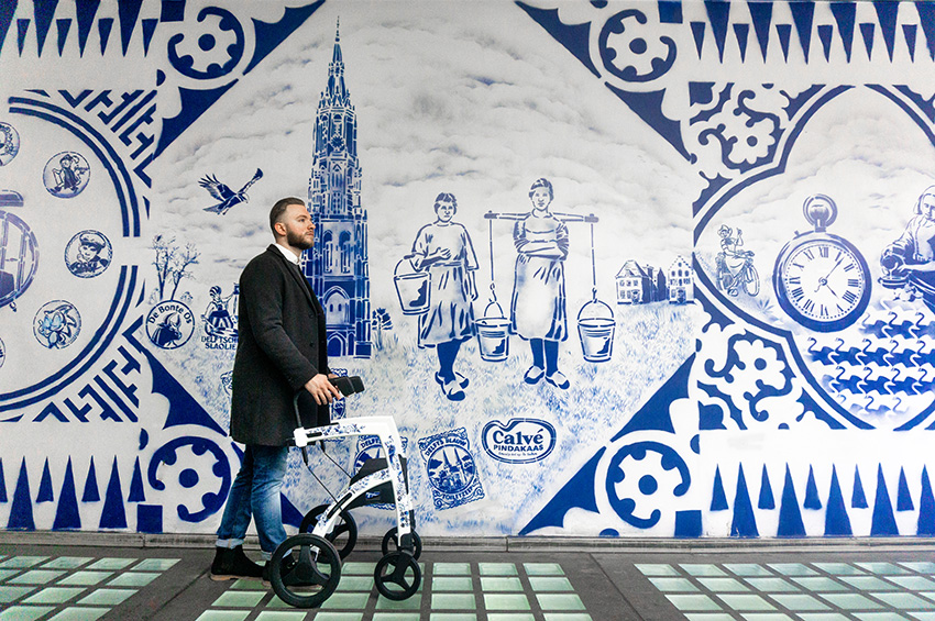
M286 476L288 451L287 446L246 445L218 529L219 547L243 544L251 514L256 520L263 558L268 561L286 540L279 491Z

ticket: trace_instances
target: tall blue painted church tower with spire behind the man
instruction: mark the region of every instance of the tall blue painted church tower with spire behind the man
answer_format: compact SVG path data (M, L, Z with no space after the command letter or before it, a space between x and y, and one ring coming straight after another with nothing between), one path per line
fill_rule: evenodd
M308 208L318 243L304 270L324 308L328 355L369 358L367 214L361 207L358 120L344 84L340 27L318 101Z

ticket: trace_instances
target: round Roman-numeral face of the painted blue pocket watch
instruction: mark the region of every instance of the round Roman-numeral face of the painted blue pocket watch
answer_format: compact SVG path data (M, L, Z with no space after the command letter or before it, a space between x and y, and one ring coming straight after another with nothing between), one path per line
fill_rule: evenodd
M823 237L795 246L778 276L780 302L785 302L782 306L787 312L809 328L843 329L866 307L867 264L843 241Z

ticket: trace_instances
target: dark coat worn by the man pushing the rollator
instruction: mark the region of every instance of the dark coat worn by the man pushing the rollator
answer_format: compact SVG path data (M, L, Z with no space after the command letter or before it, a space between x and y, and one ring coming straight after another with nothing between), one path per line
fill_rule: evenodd
M293 397L299 391L310 410L305 426L324 424L328 406L316 406L302 389L315 375L329 373L324 311L298 267L275 245L241 274L238 313L231 437L286 445L296 429Z

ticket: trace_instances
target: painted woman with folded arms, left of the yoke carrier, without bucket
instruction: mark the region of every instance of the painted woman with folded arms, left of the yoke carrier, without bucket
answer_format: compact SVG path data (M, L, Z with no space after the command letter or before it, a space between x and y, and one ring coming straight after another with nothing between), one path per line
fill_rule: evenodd
M468 387L468 378L454 370L454 359L461 343L474 336L471 302L477 299L477 257L468 230L451 220L457 211L454 195L438 195L436 221L419 230L409 258L417 271L431 274L429 309L419 315L419 347L436 348L439 370L435 379L452 401L464 399Z

